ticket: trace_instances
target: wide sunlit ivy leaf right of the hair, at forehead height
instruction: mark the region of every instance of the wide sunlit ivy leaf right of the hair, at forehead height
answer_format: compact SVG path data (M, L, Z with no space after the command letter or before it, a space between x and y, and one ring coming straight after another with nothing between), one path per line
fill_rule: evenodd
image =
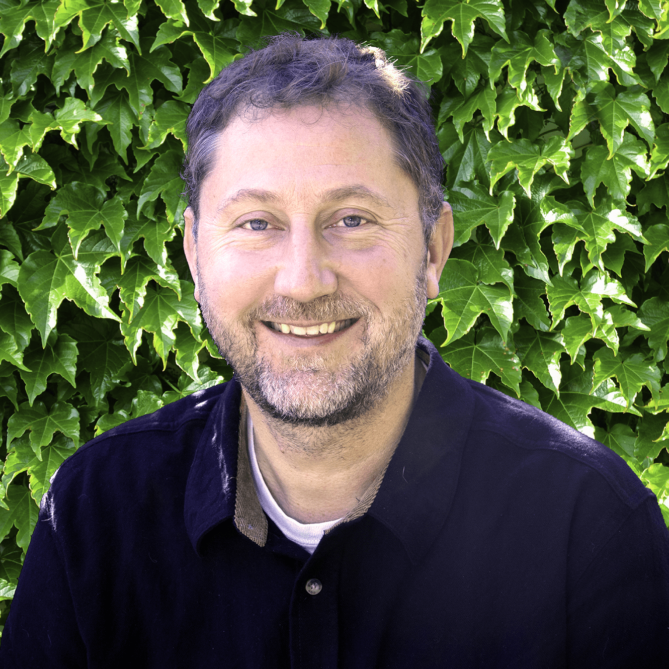
M492 195L492 187L512 169L518 170L518 182L527 193L527 197L532 197L530 192L532 182L535 174L544 165L552 165L555 173L565 183L569 183L567 170L573 155L573 150L567 145L565 138L559 136L551 137L541 147L529 139L499 142L488 151L488 161L492 161L490 194Z

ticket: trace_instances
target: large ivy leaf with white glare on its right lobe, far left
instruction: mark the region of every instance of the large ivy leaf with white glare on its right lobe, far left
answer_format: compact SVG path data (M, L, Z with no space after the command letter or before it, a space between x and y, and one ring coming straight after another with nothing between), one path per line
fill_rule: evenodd
M42 345L56 326L56 310L64 298L72 300L90 316L112 318L109 298L96 276L104 260L114 255L114 248L101 233L90 235L74 258L64 228L52 237L54 252L31 253L21 265L19 294L37 330Z

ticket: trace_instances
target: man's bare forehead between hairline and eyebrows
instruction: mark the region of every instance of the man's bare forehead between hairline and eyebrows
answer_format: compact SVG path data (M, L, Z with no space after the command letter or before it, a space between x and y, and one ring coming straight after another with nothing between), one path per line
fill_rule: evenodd
M241 189L304 195L352 186L417 203L391 134L369 110L299 107L237 116L217 138L201 195L219 199Z

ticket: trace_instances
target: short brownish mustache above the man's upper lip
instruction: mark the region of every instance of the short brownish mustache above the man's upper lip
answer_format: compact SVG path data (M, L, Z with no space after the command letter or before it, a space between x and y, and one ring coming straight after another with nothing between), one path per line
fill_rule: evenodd
M373 308L369 303L354 300L341 293L322 295L310 302L298 302L292 298L274 295L264 300L249 313L248 322L252 323L258 320L332 322L333 320L370 316L372 312Z

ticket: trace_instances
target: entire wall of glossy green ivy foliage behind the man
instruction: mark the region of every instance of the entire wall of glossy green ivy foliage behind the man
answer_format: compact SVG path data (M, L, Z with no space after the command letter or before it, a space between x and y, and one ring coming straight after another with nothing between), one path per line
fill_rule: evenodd
M63 460L231 376L181 251L184 126L284 30L378 45L432 85L456 243L425 334L617 452L669 521L668 9L0 0L1 615Z

